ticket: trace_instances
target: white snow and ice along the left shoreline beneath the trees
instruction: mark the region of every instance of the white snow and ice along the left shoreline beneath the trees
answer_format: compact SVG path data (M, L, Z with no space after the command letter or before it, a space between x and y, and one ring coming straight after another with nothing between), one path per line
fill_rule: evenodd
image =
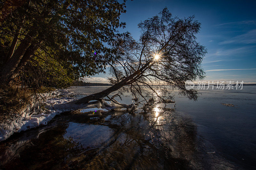
M35 128L40 125L46 125L55 115L59 115L63 111L70 111L72 109L82 109L82 112L90 112L96 110L108 111L110 109L121 110L123 106L118 105L114 102L110 102L110 105L105 102L105 100L94 101L88 104L76 105L73 103L65 104L69 101L76 100L72 97L73 92L68 89L61 89L53 93L40 94L44 99L47 99L45 102L45 108L48 110L43 111L39 108L39 105L35 104L29 106L27 109L23 110L22 116L12 122L1 124L0 125L0 141L3 141L10 137L15 132L25 131L27 129ZM52 97L52 98L49 98ZM57 97L58 96L58 97ZM41 98L41 97L40 97ZM128 106L128 105L127 105ZM30 110L35 107L34 113L31 114ZM72 108L72 109L71 109ZM136 109L136 108L135 108ZM36 114L37 113L37 114ZM29 115L30 114L30 115Z

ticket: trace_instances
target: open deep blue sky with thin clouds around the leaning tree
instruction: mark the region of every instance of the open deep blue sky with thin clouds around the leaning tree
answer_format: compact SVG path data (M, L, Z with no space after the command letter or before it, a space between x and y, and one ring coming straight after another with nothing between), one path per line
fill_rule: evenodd
M196 37L208 50L202 64L205 81L256 82L256 1L127 1L127 12L120 17L126 22L124 31L138 39L138 23L155 16L165 6L173 16L195 15L202 23ZM106 77L108 74L99 74L86 81L106 82Z

